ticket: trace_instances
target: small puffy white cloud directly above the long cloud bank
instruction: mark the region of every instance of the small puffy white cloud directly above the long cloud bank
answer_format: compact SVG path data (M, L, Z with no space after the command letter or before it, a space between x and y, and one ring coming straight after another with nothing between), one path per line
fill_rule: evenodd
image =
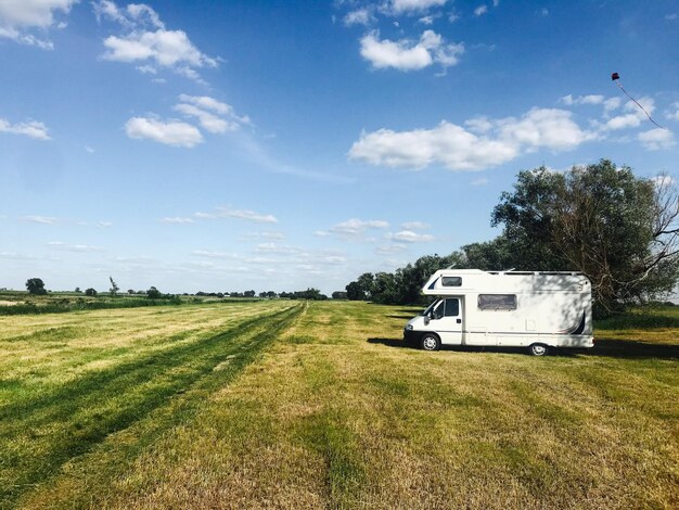
M377 31L361 39L361 56L377 69L418 71L434 63L449 67L458 63L462 53L463 43L446 44L444 38L433 30L424 30L417 42L409 39L381 40Z

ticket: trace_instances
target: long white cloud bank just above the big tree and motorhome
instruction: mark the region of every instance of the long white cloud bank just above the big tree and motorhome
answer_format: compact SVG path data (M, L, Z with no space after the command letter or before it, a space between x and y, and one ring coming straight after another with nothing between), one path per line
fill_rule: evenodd
M473 170L497 166L538 149L574 149L594 138L581 130L565 110L533 109L518 119L488 122L491 129L484 136L445 120L433 129L363 132L349 150L349 157L387 167L421 169L439 163L451 170Z

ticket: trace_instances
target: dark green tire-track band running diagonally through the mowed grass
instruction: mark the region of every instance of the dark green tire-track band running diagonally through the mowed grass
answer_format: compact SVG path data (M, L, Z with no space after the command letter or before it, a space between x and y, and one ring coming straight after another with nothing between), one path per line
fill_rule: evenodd
M242 369L299 311L299 306L292 306L258 316L191 344L87 374L34 401L4 406L0 409L0 508L13 506L65 462L209 378L228 356Z

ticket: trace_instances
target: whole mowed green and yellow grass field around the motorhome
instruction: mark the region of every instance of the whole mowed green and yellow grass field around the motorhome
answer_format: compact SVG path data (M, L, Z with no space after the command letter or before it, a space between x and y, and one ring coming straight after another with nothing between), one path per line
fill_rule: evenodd
M679 309L547 358L405 348L417 311L0 317L0 507L679 507Z

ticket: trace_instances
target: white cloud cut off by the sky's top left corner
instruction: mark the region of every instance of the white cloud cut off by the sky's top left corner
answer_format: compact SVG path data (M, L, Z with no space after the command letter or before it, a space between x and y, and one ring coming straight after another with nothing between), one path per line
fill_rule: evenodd
M0 1L0 37L43 50L54 48L49 39L39 39L33 29L44 30L63 27L54 20L56 12L67 14L78 0L4 0Z

